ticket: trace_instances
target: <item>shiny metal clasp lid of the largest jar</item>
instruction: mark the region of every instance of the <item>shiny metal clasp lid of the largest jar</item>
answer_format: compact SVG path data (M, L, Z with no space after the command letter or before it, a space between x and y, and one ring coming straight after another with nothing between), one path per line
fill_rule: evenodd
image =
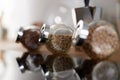
M84 40L87 38L89 34L89 26L87 23L80 20L76 26L76 29L73 33L72 39L73 44L76 46L81 46L84 43Z

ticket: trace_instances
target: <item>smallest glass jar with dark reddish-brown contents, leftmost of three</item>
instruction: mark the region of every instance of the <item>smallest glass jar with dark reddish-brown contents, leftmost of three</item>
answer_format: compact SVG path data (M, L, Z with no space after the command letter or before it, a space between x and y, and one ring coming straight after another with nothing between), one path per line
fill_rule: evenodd
M39 37L40 28L36 26L21 27L16 42L21 42L29 51L38 50L40 48Z

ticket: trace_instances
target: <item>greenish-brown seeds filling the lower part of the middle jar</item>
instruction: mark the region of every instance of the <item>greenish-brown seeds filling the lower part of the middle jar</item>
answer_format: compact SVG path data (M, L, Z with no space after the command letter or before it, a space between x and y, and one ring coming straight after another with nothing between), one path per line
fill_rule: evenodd
M46 47L53 54L66 53L70 49L71 43L72 43L71 35L50 34L48 37L48 41L46 42Z

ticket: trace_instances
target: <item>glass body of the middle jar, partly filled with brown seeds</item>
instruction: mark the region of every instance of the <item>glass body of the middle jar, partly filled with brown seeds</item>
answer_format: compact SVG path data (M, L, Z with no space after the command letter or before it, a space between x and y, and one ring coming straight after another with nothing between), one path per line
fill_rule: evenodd
M72 43L72 29L64 24L50 26L46 47L53 54L67 53Z

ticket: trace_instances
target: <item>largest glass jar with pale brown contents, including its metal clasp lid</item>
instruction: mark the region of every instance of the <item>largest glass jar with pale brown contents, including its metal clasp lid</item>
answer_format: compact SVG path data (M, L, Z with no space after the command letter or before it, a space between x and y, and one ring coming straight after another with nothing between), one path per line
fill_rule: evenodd
M92 59L106 59L119 48L118 34L109 22L98 20L86 24L81 20L78 25L73 43Z

